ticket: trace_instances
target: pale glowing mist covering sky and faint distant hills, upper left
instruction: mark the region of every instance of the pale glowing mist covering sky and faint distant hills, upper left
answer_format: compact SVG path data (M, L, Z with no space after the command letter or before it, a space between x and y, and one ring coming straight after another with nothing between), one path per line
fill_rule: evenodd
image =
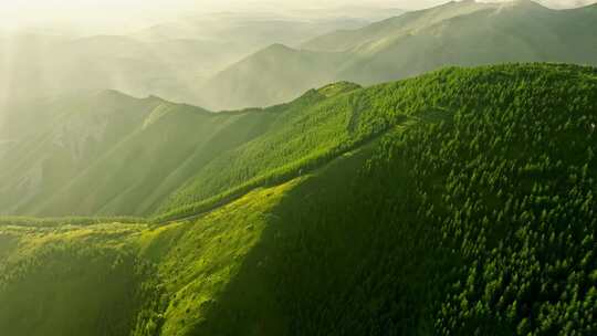
M272 44L301 50L308 40L328 32L359 29L444 2L2 1L0 123L18 102L107 88L210 108L247 107L251 104L214 104L210 102L214 95L206 94L214 77L245 57ZM593 2L541 1L552 8ZM326 80L331 77L298 87ZM281 94L275 102L295 94L296 90Z

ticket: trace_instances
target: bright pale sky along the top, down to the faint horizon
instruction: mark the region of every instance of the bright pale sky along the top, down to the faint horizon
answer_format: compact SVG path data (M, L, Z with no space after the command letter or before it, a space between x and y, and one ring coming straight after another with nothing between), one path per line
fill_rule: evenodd
M478 0L478 2L511 2L513 0ZM553 9L584 7L597 0L532 0ZM310 10L341 8L420 10L448 3L447 0L32 0L0 2L0 30L4 32L38 31L44 33L73 33L93 35L126 33L161 22L176 21L192 15L216 13L275 13L300 18Z

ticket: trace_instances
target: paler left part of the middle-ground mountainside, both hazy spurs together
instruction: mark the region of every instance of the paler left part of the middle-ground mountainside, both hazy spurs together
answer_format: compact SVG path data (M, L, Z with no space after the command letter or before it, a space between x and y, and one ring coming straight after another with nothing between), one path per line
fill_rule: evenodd
M121 103L108 103L113 97ZM0 158L2 212L151 212L206 162L261 134L272 118L268 113L216 115L115 92L84 104L91 111L61 106L64 117L48 132L18 141Z

